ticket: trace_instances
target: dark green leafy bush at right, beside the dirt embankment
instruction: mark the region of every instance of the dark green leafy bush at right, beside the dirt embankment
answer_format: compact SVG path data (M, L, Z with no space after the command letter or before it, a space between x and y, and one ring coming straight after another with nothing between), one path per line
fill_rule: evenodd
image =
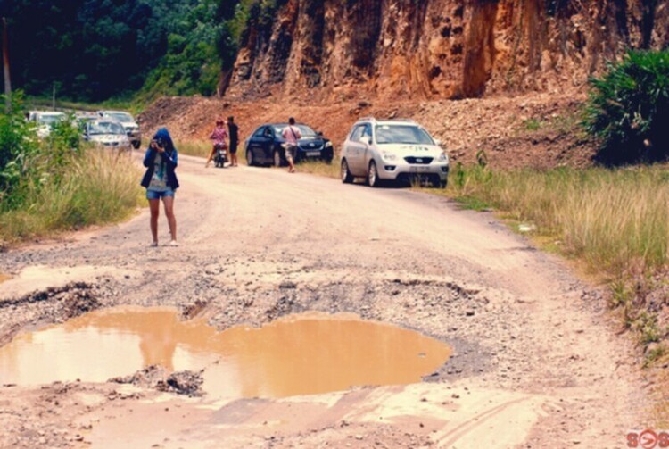
M669 50L631 51L591 79L583 124L607 164L669 157Z

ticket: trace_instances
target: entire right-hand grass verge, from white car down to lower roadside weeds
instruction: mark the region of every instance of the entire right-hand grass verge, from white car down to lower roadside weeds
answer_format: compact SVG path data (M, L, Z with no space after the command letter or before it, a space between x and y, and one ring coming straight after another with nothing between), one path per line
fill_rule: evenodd
M494 209L538 245L610 286L609 305L657 372L658 424L669 411L669 168L490 170L458 165L445 191Z

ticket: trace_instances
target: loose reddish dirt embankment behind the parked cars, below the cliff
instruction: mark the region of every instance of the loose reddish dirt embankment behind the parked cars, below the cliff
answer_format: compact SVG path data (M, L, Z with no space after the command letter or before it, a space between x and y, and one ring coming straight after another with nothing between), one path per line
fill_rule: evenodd
M233 115L244 139L262 123L294 116L323 131L338 150L361 117L408 118L442 140L454 161L475 162L483 150L494 167L547 168L591 163L594 145L578 126L582 101L581 95L547 94L423 102L361 98L322 104L305 97L293 101L164 97L141 115L141 121L150 132L167 126L178 140L206 139L217 117Z

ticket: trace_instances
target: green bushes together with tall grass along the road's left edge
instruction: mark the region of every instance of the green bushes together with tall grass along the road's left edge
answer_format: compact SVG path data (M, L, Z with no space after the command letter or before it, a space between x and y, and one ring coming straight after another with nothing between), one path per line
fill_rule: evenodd
M84 146L71 121L39 140L21 103L0 115L0 163L0 240L121 220L141 199L130 157Z

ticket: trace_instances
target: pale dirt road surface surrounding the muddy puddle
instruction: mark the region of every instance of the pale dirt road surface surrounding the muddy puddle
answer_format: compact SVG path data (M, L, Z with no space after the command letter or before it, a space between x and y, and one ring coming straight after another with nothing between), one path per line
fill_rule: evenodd
M4 386L1 447L624 447L646 424L638 361L598 293L490 215L405 188L205 170L188 157L178 175L179 247L150 248L142 211L0 254L12 277L0 284L0 344L132 304L220 329L354 312L455 355L419 384L274 400ZM167 242L163 217L160 229Z

